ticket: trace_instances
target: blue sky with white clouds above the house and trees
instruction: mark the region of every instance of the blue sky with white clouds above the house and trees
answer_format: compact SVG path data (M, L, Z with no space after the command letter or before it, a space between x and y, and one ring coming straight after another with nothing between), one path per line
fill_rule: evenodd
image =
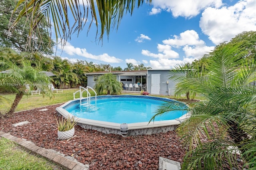
M171 69L200 59L219 43L243 31L256 31L256 0L152 0L122 19L103 43L95 42L96 27L85 28L56 55L123 69L143 63ZM88 23L86 23L88 26Z

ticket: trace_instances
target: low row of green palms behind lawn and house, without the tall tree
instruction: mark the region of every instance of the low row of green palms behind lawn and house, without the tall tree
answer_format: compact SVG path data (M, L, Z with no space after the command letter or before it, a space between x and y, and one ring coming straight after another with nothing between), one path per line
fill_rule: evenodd
M56 88L63 89L65 87L75 88L78 85L86 86L87 77L85 73L96 71L124 71L124 70L145 70L150 67L145 67L144 64L133 65L127 63L127 68L122 69L120 66L113 67L110 64L95 64L92 61L77 60L70 62L67 59L62 59L60 56L48 57L40 52L17 52L8 47L0 47L0 60L10 61L11 63L21 66L23 61L30 63L32 67L39 71L49 71L56 76L51 77ZM0 67L0 71L4 71Z

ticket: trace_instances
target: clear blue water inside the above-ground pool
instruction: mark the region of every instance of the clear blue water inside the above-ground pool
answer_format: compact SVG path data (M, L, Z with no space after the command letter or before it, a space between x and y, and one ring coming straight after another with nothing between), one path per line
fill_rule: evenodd
M171 101L171 100L170 100ZM87 103L87 102L85 102ZM117 97L117 98L97 98L97 110L86 111L80 107L80 103L66 107L65 109L72 115L84 119L97 121L107 121L112 123L139 123L148 122L155 114L154 112L161 104L161 100L138 98L138 97ZM91 101L95 105L95 101ZM184 105L184 107L186 107ZM186 111L174 111L156 117L155 121L172 120L186 114Z

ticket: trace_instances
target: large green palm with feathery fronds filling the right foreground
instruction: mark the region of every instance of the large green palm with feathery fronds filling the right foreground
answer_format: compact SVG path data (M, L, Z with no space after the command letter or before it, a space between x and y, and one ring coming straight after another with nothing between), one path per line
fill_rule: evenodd
M189 104L190 118L177 128L190 150L182 169L238 169L238 160L256 165L256 87L251 84L256 65L244 57L241 44L222 44L208 54L201 70L177 68L170 77L205 97ZM180 76L182 71L186 76ZM150 121L171 110L180 108L167 103ZM241 156L232 154L238 151Z

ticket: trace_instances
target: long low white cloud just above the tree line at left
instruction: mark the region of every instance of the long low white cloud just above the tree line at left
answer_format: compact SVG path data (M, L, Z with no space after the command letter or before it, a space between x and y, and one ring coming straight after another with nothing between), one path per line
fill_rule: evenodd
M68 55L78 55L88 59L104 61L107 63L120 63L123 61L122 59L116 58L114 56L109 56L107 53L103 53L101 55L93 55L91 53L88 53L85 48L74 47L69 42L66 42L63 51Z

